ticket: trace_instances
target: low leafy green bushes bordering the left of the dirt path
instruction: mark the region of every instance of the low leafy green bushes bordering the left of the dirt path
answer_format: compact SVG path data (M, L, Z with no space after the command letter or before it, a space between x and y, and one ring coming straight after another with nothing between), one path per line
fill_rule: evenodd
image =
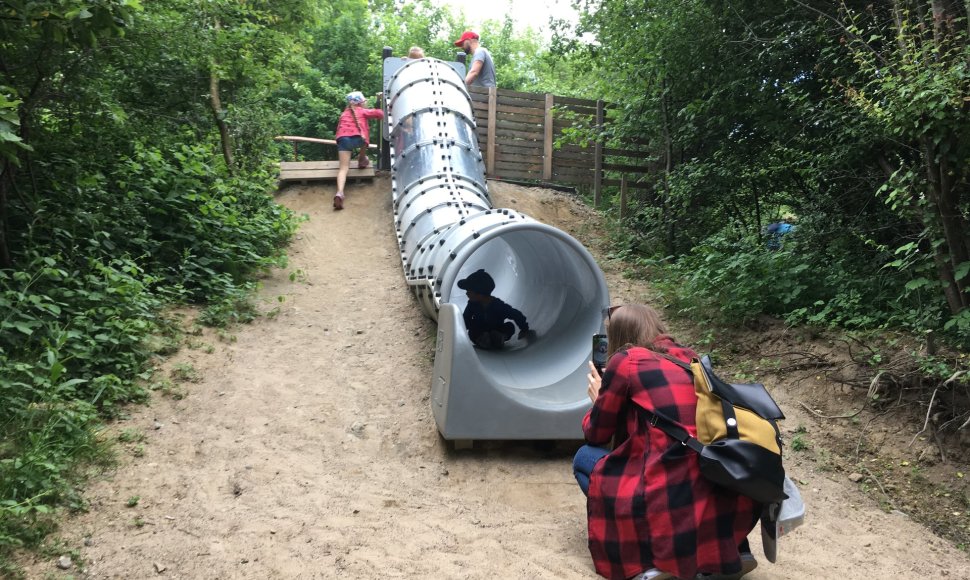
M253 275L284 260L297 222L269 173L228 177L210 151L136 143L71 186L52 177L24 230L32 249L0 270L0 569L51 510L81 505L80 466L107 455L100 422L146 396L160 309L193 301L213 325L251 320Z

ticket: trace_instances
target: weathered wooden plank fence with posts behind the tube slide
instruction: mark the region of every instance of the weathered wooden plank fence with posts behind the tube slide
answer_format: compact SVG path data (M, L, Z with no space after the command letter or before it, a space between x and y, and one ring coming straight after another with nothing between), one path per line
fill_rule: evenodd
M478 87L469 94L489 178L589 187L596 203L604 187L653 189L655 167L642 142L565 144L570 129L608 129L603 101Z

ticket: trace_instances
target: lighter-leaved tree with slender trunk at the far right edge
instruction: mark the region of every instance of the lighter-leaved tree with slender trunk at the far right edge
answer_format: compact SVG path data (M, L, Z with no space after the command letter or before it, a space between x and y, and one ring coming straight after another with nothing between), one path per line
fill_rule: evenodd
M923 227L917 246L932 255L936 281L950 313L970 309L970 130L968 13L955 2L893 1L828 15L844 29L843 50L855 74L844 94L902 147L881 161L891 170L881 188L904 219ZM964 315L964 318L970 318ZM962 320L962 319L961 319ZM963 321L970 328L970 320Z

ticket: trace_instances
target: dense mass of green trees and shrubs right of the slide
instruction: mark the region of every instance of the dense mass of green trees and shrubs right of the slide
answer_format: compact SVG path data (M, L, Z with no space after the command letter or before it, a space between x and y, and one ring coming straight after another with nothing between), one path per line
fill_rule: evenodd
M780 272L806 266L816 288L766 286L784 299L748 301L733 317L770 311L970 338L967 153L956 138L966 131L965 6L577 6L577 32L595 42L564 45L614 97L612 136L640 140L656 160L628 224L637 251L674 256L688 277L737 269L739 253L773 263L764 225L797 217L797 264Z

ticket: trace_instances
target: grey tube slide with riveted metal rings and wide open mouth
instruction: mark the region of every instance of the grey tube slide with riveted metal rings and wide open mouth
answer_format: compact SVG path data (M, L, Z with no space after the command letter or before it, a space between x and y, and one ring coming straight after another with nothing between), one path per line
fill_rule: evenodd
M432 408L448 440L581 439L592 335L609 305L603 273L571 236L492 207L472 101L458 63L384 61L386 135L401 262L438 322ZM468 336L458 281L484 269L534 336L485 350Z

